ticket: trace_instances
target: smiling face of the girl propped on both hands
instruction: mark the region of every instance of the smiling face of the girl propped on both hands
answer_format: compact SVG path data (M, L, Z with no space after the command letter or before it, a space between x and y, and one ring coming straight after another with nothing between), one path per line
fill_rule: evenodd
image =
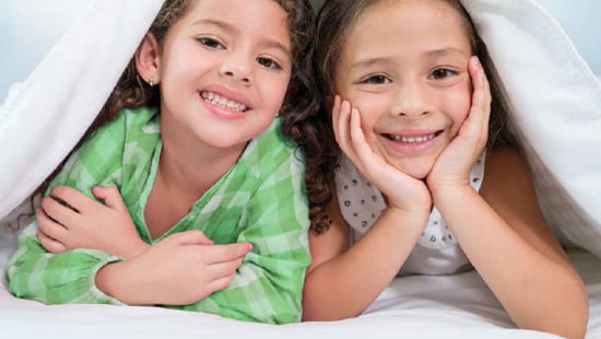
M445 2L379 1L351 27L334 86L360 109L374 152L424 178L470 109L471 55L460 14Z

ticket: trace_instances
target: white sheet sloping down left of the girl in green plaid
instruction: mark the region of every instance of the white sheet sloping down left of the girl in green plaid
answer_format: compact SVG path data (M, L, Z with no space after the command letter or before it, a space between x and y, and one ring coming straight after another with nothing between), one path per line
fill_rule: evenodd
M61 162L108 97L162 0L97 0L0 106L0 219Z

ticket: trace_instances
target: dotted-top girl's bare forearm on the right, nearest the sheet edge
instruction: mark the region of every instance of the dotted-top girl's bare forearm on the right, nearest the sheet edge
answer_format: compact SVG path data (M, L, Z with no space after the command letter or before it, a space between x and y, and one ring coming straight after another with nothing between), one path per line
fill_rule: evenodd
M471 187L437 191L433 198L517 326L568 338L584 336L587 294L567 260L538 250Z

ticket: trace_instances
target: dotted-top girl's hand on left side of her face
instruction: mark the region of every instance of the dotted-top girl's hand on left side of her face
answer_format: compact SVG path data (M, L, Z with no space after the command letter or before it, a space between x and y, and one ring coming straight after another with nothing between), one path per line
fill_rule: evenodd
M337 95L332 126L338 144L357 170L388 199L389 207L429 213L432 198L426 185L399 171L375 153L365 141L361 115Z

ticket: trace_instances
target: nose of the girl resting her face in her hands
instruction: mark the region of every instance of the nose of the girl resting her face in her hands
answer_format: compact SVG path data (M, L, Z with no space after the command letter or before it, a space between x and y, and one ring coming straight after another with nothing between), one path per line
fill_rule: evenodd
M406 81L400 87L394 98L391 114L408 118L417 118L432 112L427 85L417 80Z

